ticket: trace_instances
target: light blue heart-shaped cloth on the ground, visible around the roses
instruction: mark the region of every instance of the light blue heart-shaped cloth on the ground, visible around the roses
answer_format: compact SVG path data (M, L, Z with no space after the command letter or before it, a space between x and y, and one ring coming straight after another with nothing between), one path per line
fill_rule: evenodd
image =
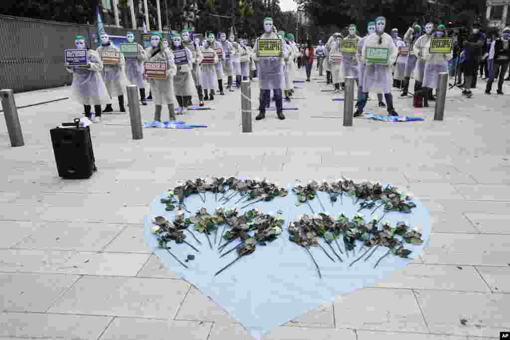
M270 202L258 202L240 211L240 214L243 214L247 210L257 207L264 213L276 215L277 211L281 210L283 219L285 219L284 231L277 240L264 247L257 246L254 253L242 257L216 277L214 274L218 270L237 257L237 253L232 252L219 258L217 247L222 226L218 230L218 240L213 246L214 250L210 248L206 236L194 231L193 226L190 229L201 241L201 245L198 245L188 232L185 232L186 240L197 247L199 253L185 244L176 245L173 242L170 244L170 251L182 261L188 254L195 255L195 260L186 264L189 269L185 269L177 263L165 249L157 247L156 238L150 231L151 217L164 216L172 221L175 216L174 212L166 212L165 204L160 202L161 198L166 197L166 192L151 202L151 216L144 218L145 243L170 271L176 273L176 278L185 279L194 284L202 294L210 296L256 339L261 339L263 334L269 332L273 327L285 324L302 316L305 312L317 309L322 303L333 302L336 295L349 294L364 286L373 286L375 282L388 278L394 271L401 270L413 262L413 259L390 255L374 269L376 261L388 250L379 247L368 261L358 261L352 267L348 267L352 260L361 255L359 254L361 243L357 243L355 253L350 251L347 258L343 242L339 242L344 254L340 254L338 248L335 250L342 257L343 263L340 263L338 259L333 263L319 248L310 249L320 267L322 274L322 279L320 279L307 251L289 241L287 226L291 219L294 219L296 215L312 214L307 204L295 205L296 196L292 193L291 188L289 185L287 197L276 198ZM166 187L162 189L166 189ZM193 212L193 215L202 206L207 207L210 214L214 214L214 209L220 206L220 203L215 201L213 193L207 193L206 196L206 203L203 203L198 195L192 195L185 199L185 204L188 210ZM359 204L354 205L351 196L344 195L342 204L339 197L334 206L331 206L326 193L318 192L318 196L331 215L338 216L344 212L346 216L352 218L357 214ZM236 206L237 199L237 196L232 198L225 204L225 207ZM423 245L405 245L405 248L413 251L410 256L418 258L423 248L429 243L431 222L427 208L419 200L414 200L414 202L417 207L413 208L411 214L390 212L386 214L385 219L388 219L392 226L398 221L407 221L411 228L417 227L420 230L424 241ZM315 214L321 211L317 199L311 201L310 204L314 208ZM239 203L237 206L243 205ZM365 214L367 220L371 217L370 210L362 210L361 213ZM381 216L383 213L381 207L374 215ZM190 214L186 213L185 218L187 217L190 217ZM214 233L210 238L213 243ZM230 250L239 243L233 242L232 246L227 246L225 250ZM323 241L320 243L326 250L329 250L328 253L331 256L334 256ZM335 243L332 245L337 247Z

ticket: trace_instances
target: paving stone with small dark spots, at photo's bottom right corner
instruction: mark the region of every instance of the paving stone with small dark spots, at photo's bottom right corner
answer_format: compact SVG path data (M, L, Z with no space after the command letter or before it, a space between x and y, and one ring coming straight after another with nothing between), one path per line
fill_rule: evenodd
M493 336L510 330L510 296L446 291L417 291L432 333Z

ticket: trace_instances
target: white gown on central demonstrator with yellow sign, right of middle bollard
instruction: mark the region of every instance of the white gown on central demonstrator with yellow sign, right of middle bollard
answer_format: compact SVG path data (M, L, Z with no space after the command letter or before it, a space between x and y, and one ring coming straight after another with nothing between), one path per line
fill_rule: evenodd
M255 43L254 51L259 50L259 40L279 39L276 33L264 33ZM283 56L281 57L256 57L259 61L258 75L259 86L262 90L285 89L285 57L289 51L287 45L282 42Z

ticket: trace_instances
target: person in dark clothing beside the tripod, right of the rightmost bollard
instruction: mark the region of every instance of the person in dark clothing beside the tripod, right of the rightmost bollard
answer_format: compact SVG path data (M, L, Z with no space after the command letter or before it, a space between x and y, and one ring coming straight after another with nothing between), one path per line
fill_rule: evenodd
M466 61L464 63L464 94L471 97L472 87L476 87L476 73L481 60L483 44L486 43L485 34L480 32L480 24L474 23L472 33L464 41Z

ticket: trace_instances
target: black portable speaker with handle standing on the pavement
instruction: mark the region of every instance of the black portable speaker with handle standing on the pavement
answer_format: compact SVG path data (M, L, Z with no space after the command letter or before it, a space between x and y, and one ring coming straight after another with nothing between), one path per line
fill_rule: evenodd
M80 120L63 123L49 130L59 176L69 179L84 179L97 171L90 138L89 127L80 127Z

